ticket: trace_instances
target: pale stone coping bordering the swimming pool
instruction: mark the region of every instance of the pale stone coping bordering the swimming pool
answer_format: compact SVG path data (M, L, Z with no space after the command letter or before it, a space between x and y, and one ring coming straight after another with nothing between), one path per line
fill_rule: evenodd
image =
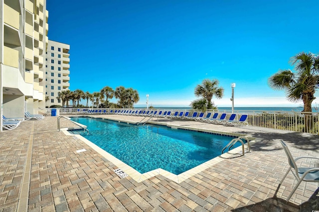
M73 116L70 116L73 117ZM92 116L83 116L83 117L91 117L91 118L97 118L97 117L92 117ZM105 117L98 117L97 119L106 119L106 120L112 120L112 121L117 121L117 122L122 122L122 123L128 123L128 124L138 124L137 122L131 122L131 121L121 121L121 120L116 120L116 119L110 119L110 118L105 118ZM157 123L157 122L149 122L150 124L156 124L156 125L162 125L162 126L167 126L167 127L172 127L173 129L183 129L183 130L192 130L192 131L197 131L197 132L205 132L205 133L212 133L212 134L217 134L217 135L226 135L226 136L232 136L232 137L240 137L240 136L245 136L244 134L237 134L237 133L226 133L226 132L218 132L218 131L213 131L213 130L206 130L206 129L199 129L199 128L194 128L194 127L185 127L185 126L179 126L179 125L171 125L171 124L164 124L164 123ZM109 160L110 162L112 162L114 165L116 165L118 168L120 168L122 171L124 171L128 176L130 176L132 179L134 179L137 182L142 182L144 180L147 180L151 177L154 177L156 175L162 175L172 181L174 181L175 183L181 183L184 180L204 171L205 169L221 162L222 160L225 159L230 159L233 157L239 157L239 156L245 156L242 155L242 146L238 146L234 149L231 149L228 152L225 152L215 158L212 158L198 166L195 166L183 173L180 173L178 175L173 174L171 172L168 172L164 169L158 168L158 169L154 169L152 171L146 172L146 173L140 173L138 172L136 169L134 169L133 167L129 166L128 164L124 163L123 161L121 161L120 159L116 158L115 156L113 156L112 154L108 153L107 151L105 151L104 149L102 149L101 147L97 146L96 144L94 144L93 142L85 139L84 137L82 137L81 135L76 135L76 134L70 134L67 130L71 130L68 128L63 128L61 129L61 131L64 132L65 135L67 136L75 136L76 138L78 138L79 140L83 141L84 143L86 143L88 146L90 146L91 148L93 148L95 151L97 151L99 154L101 154L104 158L106 158L107 160ZM258 141L258 139L253 138L252 141L249 141L250 146L252 144L254 144L256 141ZM247 143L244 144L244 153L248 152L248 145ZM80 153L80 152L79 152ZM115 168L114 170L116 170L117 168Z

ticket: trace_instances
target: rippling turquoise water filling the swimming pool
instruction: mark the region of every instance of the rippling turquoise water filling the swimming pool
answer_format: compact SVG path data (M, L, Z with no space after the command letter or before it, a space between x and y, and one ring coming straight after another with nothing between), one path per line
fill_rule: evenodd
M219 156L233 139L158 125L136 126L88 117L71 120L88 127L89 135L81 133L84 138L140 173L162 168L180 174Z

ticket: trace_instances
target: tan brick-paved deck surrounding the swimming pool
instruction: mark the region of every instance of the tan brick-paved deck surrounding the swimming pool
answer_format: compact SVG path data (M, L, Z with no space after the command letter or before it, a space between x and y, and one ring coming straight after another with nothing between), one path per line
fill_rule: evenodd
M123 122L144 117L96 115ZM62 128L74 124L61 119ZM178 119L159 124L246 135L258 141L245 156L222 155L185 179L164 174L120 178L119 167L103 152L75 135L57 131L57 117L24 121L0 133L0 212L312 212L319 210L318 183L301 183L289 203L292 174L278 189L288 168L279 140L294 157L319 155L319 136L255 127L226 127ZM85 149L85 151L83 151ZM82 150L82 151L77 151ZM310 166L309 161L303 162ZM316 166L319 166L317 163Z

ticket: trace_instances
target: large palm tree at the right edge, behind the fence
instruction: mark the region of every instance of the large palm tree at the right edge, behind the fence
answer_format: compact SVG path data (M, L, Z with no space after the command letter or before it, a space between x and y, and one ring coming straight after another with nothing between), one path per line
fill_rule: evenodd
M281 70L268 80L269 86L275 90L284 90L291 102L304 103L303 112L312 112L312 102L319 88L319 56L301 52L290 60L295 70Z

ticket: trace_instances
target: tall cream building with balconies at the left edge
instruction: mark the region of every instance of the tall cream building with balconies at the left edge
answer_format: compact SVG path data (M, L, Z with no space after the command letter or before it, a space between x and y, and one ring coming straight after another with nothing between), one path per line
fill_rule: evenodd
M0 0L0 9L0 113L38 113L45 108L46 0Z

